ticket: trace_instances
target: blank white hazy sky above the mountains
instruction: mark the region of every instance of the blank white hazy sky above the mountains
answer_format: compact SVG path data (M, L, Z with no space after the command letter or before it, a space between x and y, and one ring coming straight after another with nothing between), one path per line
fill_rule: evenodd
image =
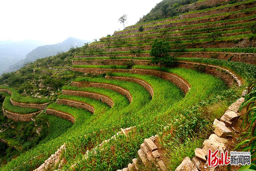
M49 44L68 37L101 38L123 30L161 0L1 0L0 41L40 40Z

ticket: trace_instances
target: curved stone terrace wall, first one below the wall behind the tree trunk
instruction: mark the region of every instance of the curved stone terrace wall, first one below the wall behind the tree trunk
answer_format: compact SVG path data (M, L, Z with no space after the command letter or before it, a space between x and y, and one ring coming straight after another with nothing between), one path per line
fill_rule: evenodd
M130 78L130 77L118 77L118 76L108 76L108 75L106 75L105 78L106 79L115 79L115 80L120 80L120 81L130 81L130 82L140 84L142 87L144 87L150 93L151 97L153 97L153 95L154 95L154 90L153 90L152 86L143 80L136 79L136 78Z

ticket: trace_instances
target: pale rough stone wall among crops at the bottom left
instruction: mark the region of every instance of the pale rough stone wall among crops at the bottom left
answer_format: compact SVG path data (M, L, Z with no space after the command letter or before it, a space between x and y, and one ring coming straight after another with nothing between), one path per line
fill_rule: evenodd
M44 161L44 163L41 166L39 166L39 168L37 168L33 171L54 170L56 167L60 168L59 163L61 160L61 156L65 150L66 150L66 145L63 144L55 152L55 154L52 154L51 157L49 157L47 160Z

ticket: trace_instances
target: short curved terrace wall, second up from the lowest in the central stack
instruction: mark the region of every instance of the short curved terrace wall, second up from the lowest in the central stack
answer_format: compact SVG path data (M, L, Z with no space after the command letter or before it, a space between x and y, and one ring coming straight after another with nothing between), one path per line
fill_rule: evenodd
M74 101L69 99L57 99L57 103L68 105L75 108L83 108L91 113L94 113L94 107L84 102Z

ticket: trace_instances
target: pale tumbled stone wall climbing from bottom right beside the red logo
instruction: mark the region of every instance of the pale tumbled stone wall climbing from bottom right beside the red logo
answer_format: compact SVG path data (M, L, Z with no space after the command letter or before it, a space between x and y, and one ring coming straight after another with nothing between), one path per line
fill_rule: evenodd
M203 148L195 149L195 157L192 161L189 157L186 157L175 171L215 170L215 168L208 166L208 149L211 149L212 152L215 152L218 149L219 153L224 153L228 143L226 138L232 137L233 135L233 132L228 128L228 126L231 127L240 116L238 110L243 101L244 98L240 98L231 104L225 114L221 117L221 121L218 119L214 120L214 134L211 134L208 140L204 140Z

